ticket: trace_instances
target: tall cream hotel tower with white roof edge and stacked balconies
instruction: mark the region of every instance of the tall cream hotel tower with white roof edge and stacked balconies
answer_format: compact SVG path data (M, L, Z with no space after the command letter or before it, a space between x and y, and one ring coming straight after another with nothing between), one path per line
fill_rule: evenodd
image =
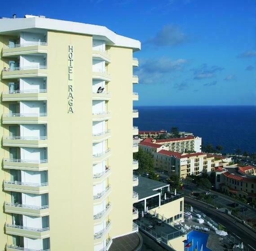
M25 17L0 19L1 249L106 251L137 231L132 55L141 43Z

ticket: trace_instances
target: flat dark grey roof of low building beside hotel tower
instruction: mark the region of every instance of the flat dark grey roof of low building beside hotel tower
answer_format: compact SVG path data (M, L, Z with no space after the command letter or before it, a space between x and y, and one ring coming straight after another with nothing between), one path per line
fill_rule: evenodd
M139 194L139 200L147 197L153 197L154 195L159 194L158 190L162 187L169 186L169 184L151 180L149 178L138 176L139 185L133 187L133 191Z

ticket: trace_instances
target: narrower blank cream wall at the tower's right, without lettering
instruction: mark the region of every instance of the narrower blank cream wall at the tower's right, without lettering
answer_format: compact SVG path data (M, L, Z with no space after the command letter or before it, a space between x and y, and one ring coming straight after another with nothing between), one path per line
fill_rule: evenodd
M111 93L108 102L111 113L108 122L111 130L110 236L116 237L132 231L132 49L110 47L108 53L111 55L107 66L111 74L108 84Z

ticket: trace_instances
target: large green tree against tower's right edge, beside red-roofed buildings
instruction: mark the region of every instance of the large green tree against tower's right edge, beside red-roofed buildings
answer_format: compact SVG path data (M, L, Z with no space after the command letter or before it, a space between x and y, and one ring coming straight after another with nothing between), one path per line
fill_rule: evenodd
M133 153L133 158L139 161L139 168L137 169L138 174L150 172L154 169L154 158L152 154L143 151L140 147L138 152Z

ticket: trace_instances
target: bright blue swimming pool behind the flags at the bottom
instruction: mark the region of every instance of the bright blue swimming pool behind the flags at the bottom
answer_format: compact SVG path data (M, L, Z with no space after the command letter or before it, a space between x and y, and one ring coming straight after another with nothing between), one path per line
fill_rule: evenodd
M187 240L188 240L188 242L191 242L193 240L194 245L193 245L193 247L192 246L189 247L189 248L186 247L185 251L194 251L194 249L196 247L196 243L198 244L198 246L197 246L198 251L201 251L202 244L203 244L203 251L212 251L211 249L206 247L208 236L209 236L209 234L202 233L202 232L199 232L199 231L196 231L196 230L192 230L187 235ZM187 243L185 243L185 245Z

